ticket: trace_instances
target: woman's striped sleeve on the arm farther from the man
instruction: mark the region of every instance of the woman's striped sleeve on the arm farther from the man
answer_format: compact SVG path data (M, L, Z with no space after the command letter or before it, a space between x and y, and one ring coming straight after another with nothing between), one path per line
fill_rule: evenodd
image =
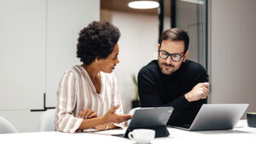
M73 115L76 104L76 86L73 72L65 72L57 91L55 125L58 131L75 133L83 121L83 118L76 118Z

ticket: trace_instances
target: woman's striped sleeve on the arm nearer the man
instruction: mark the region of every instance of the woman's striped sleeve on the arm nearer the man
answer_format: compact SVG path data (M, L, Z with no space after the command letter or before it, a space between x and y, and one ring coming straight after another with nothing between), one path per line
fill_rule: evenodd
M117 79L115 77L115 75L113 74L113 104L112 106L117 106L119 105L119 109L117 109L115 111L115 113L117 114L124 114L124 110L123 110L123 105L122 105L122 102L121 102L121 99L120 99L120 95L119 95L119 87L118 87L118 82L117 82ZM125 122L123 123L120 123L120 124L114 124L115 126L117 127L121 127L121 128L124 128L125 126Z

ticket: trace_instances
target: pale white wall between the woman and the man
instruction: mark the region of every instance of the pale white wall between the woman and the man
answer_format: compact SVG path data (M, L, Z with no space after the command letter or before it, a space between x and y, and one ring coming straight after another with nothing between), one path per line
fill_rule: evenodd
M158 16L112 11L111 22L121 32L119 39L119 64L115 74L124 111L129 112L131 101L136 98L132 74L157 59Z

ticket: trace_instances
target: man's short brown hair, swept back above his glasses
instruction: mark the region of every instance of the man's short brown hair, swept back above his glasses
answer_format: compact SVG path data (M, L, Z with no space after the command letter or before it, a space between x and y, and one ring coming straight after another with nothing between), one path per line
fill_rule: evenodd
M189 49L189 35L179 28L171 28L163 32L160 37L160 46L163 40L183 41L185 47L184 53Z

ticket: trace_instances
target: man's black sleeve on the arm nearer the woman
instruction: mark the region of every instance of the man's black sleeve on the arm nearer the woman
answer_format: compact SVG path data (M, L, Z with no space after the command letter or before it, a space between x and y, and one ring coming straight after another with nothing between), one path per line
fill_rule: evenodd
M138 92L142 107L173 107L172 118L177 118L178 113L183 112L189 105L185 96L179 96L176 100L166 103L160 94L160 78L145 67L138 73Z

